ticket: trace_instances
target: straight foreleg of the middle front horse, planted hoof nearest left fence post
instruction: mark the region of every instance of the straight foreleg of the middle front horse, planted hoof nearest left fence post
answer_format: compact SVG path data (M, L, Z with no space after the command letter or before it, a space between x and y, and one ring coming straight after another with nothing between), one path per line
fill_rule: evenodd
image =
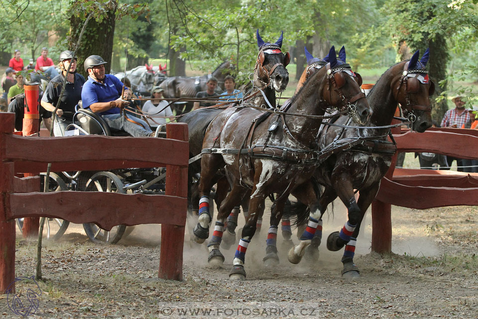
M252 190L254 193L256 187L254 186ZM257 218L264 212L265 197L266 196L263 195L263 192L261 192L255 194L255 196L249 199L250 214L247 218L244 228L242 228L241 239L239 240L238 249L236 250L236 254L233 260L233 269L229 273L229 278L231 280L245 280L245 252L247 250L247 246L250 243L250 240L252 239L252 236L254 236L254 233L256 231Z

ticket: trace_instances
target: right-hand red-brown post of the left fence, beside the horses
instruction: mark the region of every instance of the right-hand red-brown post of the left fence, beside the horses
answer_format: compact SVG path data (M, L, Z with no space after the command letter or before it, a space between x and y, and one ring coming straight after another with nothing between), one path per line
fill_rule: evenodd
M189 141L188 125L167 124L166 138ZM166 195L187 197L188 167L166 165ZM161 209L161 207L158 207ZM178 214L186 214L187 207L178 207ZM168 280L183 279L183 247L185 226L161 225L161 251L158 277Z

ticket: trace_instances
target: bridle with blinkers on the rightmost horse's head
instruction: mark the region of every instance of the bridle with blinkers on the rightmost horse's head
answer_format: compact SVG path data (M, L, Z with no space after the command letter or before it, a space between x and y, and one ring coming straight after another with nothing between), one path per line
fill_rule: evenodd
M393 95L396 101L399 101L398 95L400 93L400 89L404 88L405 90L405 103L404 105L400 103L402 109L407 112L408 115L408 120L410 122L415 122L417 120L417 116L414 114L415 111L423 111L423 112L431 112L432 107L431 105L421 105L421 104L412 104L411 103L411 98L410 98L410 93L417 93L420 89L420 83L426 83L422 82L422 80L419 79L419 77L423 77L423 81L429 81L430 82L430 88L428 89L428 95L432 95L435 92L435 83L433 81L428 80L428 70L426 69L416 69L416 70L409 70L410 61L406 62L405 65L403 66L403 72L402 76L400 77L400 80L398 81L398 86L396 90L393 91Z

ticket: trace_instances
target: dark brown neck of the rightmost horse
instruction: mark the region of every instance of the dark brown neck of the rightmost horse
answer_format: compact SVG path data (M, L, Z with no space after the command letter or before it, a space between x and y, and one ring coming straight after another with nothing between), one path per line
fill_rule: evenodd
M401 71L401 69L400 69ZM370 117L370 124L374 126L390 125L398 106L392 94L392 80L396 77L396 72L389 70L375 84L373 90L367 96L367 102L373 113Z

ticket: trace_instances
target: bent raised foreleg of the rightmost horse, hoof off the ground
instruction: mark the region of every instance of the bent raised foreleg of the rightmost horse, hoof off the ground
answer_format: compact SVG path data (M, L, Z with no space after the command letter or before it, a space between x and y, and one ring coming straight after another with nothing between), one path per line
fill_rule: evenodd
M334 177L334 176L333 176ZM337 195L348 209L349 220L339 231L335 231L327 238L327 249L338 251L344 247L350 240L360 219L360 208L355 200L354 186L352 177L347 173L340 174L332 178L332 183L337 191Z

